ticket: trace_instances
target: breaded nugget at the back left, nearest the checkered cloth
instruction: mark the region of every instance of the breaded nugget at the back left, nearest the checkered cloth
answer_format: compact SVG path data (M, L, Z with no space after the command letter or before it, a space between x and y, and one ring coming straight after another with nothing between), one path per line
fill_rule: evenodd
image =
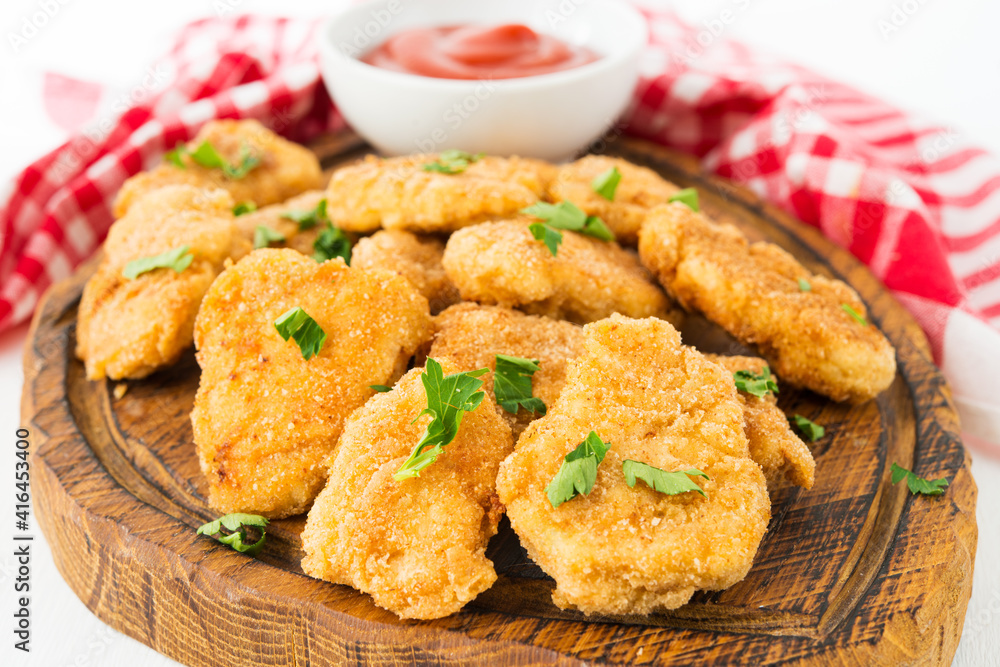
M259 163L245 175L227 176L221 168L206 167L191 152L208 142L229 165L240 165L250 156ZM164 162L125 181L115 199L116 218L125 215L143 193L171 183L228 190L236 203L250 201L266 206L285 201L306 190L323 187L319 161L304 146L282 139L256 120L213 120L188 143L180 159L184 167Z

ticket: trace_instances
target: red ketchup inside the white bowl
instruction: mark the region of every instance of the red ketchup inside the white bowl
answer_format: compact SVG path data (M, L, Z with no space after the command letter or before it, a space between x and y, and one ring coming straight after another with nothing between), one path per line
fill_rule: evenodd
M438 79L514 79L592 63L590 49L516 23L415 28L390 37L361 60Z

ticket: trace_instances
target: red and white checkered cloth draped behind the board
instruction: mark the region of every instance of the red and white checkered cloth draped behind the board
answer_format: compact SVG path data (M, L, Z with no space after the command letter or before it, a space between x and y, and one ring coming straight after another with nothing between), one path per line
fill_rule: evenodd
M673 14L646 16L624 130L696 154L868 264L927 332L965 428L1000 443L1000 162L808 70L706 40ZM0 329L97 249L122 182L206 121L257 118L298 141L338 127L317 27L256 16L188 25L151 69L169 73L162 92L0 186ZM55 121L94 106L86 85L49 83Z

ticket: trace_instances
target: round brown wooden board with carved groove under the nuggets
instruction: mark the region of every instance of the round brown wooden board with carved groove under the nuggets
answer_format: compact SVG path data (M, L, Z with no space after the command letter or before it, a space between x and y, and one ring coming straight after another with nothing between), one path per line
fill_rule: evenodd
M353 135L315 147L355 159ZM205 504L191 411L193 354L128 383L93 383L74 358L76 308L93 265L54 286L25 350L39 523L62 576L102 620L188 665L950 664L972 588L976 486L951 393L917 324L847 252L690 158L635 140L608 152L696 186L702 206L813 271L858 290L895 345L899 373L876 401L833 404L783 387L780 405L823 424L816 485L783 488L747 578L648 617L556 608L553 582L509 524L488 556L496 584L466 609L400 621L367 595L302 574L302 517L276 521L253 559L195 535ZM697 324L697 322L695 323ZM737 352L712 327L685 340ZM890 483L893 462L951 481L944 496Z

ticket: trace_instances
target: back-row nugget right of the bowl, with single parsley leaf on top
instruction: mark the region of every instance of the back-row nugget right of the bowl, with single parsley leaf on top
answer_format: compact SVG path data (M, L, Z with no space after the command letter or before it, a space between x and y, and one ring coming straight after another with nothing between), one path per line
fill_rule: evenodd
M621 172L621 181L612 201L594 192L594 179L612 167ZM570 201L587 215L596 215L608 224L622 245L635 246L646 212L666 204L680 188L651 169L621 158L587 155L561 167L549 184L552 201Z

